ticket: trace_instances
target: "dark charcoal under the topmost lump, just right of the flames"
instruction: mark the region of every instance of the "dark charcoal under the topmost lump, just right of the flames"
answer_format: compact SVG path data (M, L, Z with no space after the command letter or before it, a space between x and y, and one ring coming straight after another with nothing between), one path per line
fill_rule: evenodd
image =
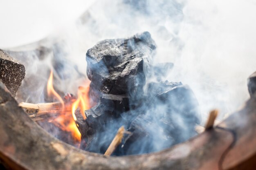
M108 138L104 144L99 144L98 142L105 139L114 127L128 124L129 119L123 119L121 117L121 113L126 112L128 109L128 97L126 95L104 94L100 97L100 102L96 106L85 110L87 119L82 120L79 117L77 118L79 131L86 144L83 149L104 153L106 150L103 148L107 148L108 142L111 141ZM115 125L113 125L114 123ZM101 134L102 139L99 138L99 134ZM103 148L98 150L99 148L95 148L95 145L99 146L99 148L102 146Z

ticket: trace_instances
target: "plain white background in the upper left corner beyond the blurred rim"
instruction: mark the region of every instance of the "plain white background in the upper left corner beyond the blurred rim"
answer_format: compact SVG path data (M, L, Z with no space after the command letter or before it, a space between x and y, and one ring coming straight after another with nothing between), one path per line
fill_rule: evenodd
M0 0L0 48L29 44L74 22L94 0Z

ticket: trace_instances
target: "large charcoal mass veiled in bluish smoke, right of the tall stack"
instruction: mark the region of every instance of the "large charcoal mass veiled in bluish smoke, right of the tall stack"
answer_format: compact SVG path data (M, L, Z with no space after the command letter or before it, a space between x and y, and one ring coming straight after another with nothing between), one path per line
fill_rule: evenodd
M188 86L179 84L162 82L150 85L148 91L160 92L153 98L150 95L144 114L132 121L128 129L132 135L124 144L127 155L162 150L195 135L195 123L200 122L198 102Z

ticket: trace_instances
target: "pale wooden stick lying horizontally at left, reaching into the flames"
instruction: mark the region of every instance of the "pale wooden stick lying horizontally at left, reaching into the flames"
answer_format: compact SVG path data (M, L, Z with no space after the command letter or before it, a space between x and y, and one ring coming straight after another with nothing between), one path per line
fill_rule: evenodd
M71 104L65 104L64 108L60 102L54 103L39 103L39 104L31 104L21 102L19 104L21 108L25 109L25 112L29 115L44 115L49 113L63 113L65 111L71 111Z

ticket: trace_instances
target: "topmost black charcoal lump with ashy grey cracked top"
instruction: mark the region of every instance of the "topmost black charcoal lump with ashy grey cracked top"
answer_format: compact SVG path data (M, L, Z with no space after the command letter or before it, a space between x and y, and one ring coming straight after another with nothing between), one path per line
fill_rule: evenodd
M155 48L150 33L144 32L129 39L104 40L89 49L86 60L92 81L90 97L97 102L101 93L134 95L142 90L143 67Z

